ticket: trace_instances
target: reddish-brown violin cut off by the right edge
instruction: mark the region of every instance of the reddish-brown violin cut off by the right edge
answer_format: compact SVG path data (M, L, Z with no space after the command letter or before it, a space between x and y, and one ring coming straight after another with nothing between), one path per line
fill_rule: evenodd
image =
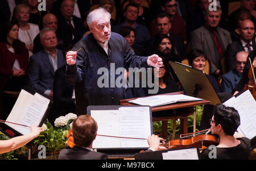
M251 92L251 95L253 95L254 99L256 100L256 91L255 91L256 79L255 79L255 74L254 74L255 67L254 67L254 65L251 64L251 59L249 57L248 57L248 59L250 61L250 69L248 72L249 82L248 82L248 84L246 84L243 87L243 90L249 90ZM255 59L256 59L256 57L255 57Z

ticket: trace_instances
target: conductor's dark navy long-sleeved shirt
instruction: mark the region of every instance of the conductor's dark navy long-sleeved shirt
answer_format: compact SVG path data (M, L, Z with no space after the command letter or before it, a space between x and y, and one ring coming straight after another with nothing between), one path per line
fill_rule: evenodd
M76 64L68 65L66 70L67 81L75 85L78 115L86 114L89 105L119 105L119 100L125 99L125 86L115 85L122 74L118 68L149 67L147 57L136 56L125 38L114 32L111 34L108 55L93 34L85 36L72 48L72 51L81 48Z

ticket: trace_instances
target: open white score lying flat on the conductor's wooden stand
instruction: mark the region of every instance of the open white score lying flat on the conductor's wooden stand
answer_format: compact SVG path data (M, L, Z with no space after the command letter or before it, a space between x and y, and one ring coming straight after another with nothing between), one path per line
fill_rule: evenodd
M151 107L168 105L176 102L187 102L187 101L200 101L203 99L191 97L184 94L176 95L155 95L152 97L142 97L129 101L130 103L135 103L137 105L148 105Z

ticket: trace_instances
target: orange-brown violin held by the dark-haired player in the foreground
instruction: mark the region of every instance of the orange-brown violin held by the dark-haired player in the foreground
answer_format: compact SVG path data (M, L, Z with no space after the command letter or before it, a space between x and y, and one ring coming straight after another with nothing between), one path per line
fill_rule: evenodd
M167 147L168 149L179 149L186 147L198 147L200 149L204 149L210 145L218 145L218 136L208 134L209 131L210 129L193 132L190 134L181 134L179 139L170 140L167 143L161 144L160 146Z

